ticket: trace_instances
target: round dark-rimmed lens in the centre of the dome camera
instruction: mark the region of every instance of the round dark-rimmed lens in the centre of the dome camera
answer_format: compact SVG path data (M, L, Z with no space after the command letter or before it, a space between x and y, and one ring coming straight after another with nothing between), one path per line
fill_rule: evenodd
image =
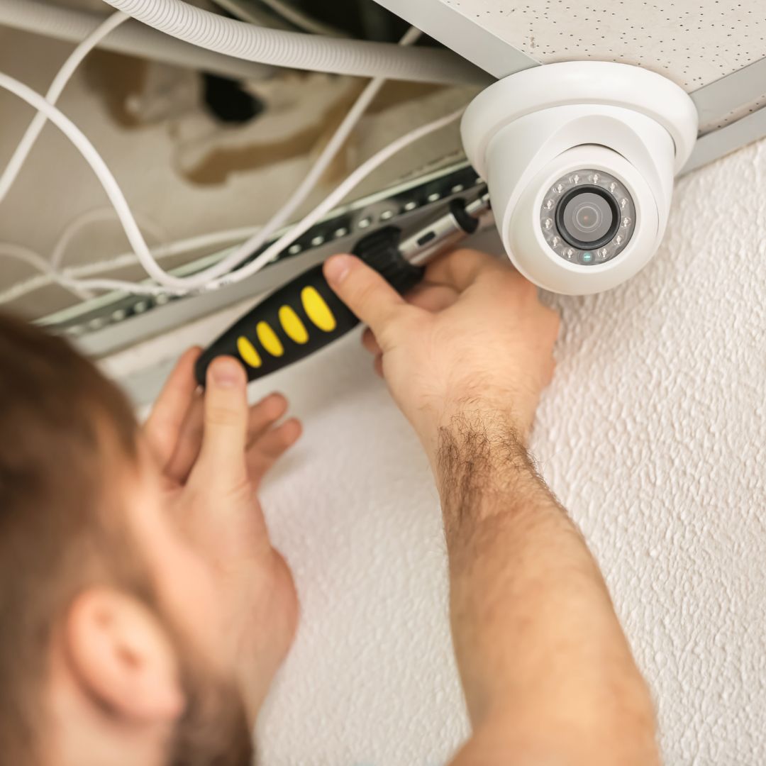
M620 211L614 198L600 186L581 186L561 197L556 224L572 247L596 249L617 234Z

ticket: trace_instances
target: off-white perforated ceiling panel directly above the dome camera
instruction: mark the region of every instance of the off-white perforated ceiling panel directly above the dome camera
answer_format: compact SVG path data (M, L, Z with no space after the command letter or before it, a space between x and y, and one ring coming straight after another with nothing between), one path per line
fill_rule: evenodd
M443 0L543 64L639 64L695 90L766 56L764 0Z

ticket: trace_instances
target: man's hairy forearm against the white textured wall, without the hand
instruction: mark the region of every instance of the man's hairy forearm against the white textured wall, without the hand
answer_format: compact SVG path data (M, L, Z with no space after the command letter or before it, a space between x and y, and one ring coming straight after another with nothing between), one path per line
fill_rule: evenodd
M434 470L475 732L460 762L656 761L650 696L601 574L512 427L453 417Z

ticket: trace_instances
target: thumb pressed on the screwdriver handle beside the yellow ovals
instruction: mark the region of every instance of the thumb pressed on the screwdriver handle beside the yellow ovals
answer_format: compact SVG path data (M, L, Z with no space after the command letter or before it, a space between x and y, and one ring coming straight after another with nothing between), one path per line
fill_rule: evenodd
M325 262L324 274L340 300L370 326L378 340L399 309L407 306L375 269L353 255L332 256Z

